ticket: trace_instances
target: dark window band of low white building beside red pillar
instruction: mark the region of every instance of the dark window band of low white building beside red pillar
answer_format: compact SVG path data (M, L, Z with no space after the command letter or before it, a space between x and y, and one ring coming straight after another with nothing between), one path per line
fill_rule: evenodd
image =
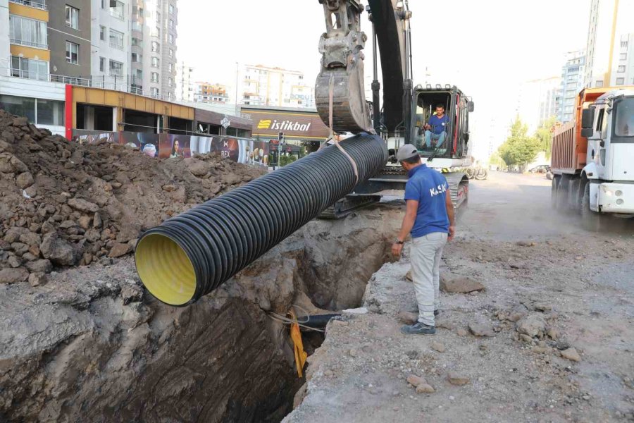
M64 125L64 102L0 95L0 109L25 116L36 125Z

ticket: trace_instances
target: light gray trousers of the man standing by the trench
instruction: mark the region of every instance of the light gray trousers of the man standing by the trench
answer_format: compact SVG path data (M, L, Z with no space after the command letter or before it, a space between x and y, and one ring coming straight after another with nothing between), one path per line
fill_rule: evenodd
M440 307L440 259L447 245L447 233L434 232L411 243L411 276L414 279L418 321L435 326L434 310Z

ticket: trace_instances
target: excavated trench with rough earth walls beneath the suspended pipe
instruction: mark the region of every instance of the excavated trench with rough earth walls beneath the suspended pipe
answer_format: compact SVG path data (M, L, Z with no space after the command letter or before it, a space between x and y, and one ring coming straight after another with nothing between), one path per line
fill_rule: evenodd
M132 259L0 289L0 421L279 422L304 380L271 314L358 307L400 213L311 221L184 308L144 293Z

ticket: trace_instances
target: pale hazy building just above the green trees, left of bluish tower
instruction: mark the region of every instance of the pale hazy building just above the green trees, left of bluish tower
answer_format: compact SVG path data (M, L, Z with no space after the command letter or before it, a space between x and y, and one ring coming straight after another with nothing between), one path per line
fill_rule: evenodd
M524 82L518 96L517 114L533 133L551 116L557 116L561 78L554 76Z

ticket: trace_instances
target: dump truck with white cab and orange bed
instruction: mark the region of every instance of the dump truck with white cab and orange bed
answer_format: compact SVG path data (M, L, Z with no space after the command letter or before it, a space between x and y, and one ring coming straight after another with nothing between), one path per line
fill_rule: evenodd
M634 217L634 86L586 88L552 138L552 206L597 231Z

